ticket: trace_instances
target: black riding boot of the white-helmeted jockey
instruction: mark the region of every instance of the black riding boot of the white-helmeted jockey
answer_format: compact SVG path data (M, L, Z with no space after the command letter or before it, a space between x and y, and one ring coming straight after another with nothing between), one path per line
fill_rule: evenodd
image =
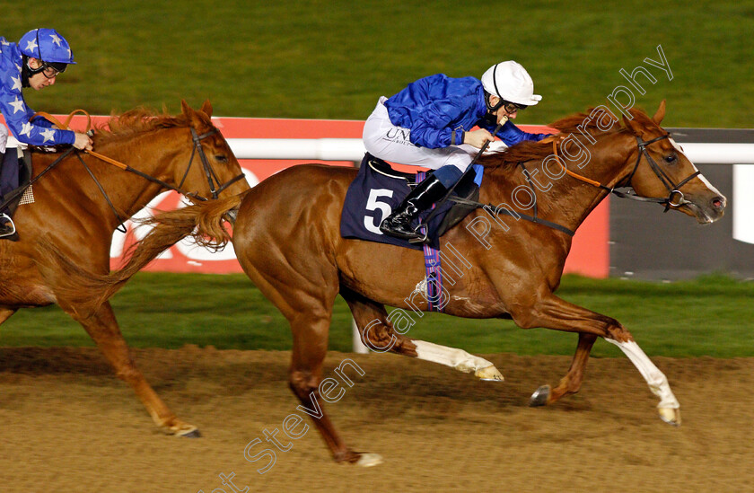
M403 199L399 207L382 221L380 231L393 238L420 242L423 236L414 231L411 222L419 216L419 213L443 198L447 192L448 189L434 177L434 174L429 175L416 185L415 189L408 192L408 196Z

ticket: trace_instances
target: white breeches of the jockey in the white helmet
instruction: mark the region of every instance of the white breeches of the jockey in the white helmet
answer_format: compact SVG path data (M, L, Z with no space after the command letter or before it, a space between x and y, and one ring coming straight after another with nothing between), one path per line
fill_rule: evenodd
M369 154L392 163L410 164L431 170L452 164L461 172L466 171L479 152L478 149L465 144L438 149L412 144L408 139L411 130L390 123L388 109L383 104L386 100L384 96L380 98L364 124L364 147Z

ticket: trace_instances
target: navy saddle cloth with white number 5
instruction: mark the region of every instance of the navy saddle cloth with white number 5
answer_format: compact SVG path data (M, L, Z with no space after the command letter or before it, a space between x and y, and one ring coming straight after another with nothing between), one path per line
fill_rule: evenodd
M481 166L475 165L474 171L464 175L453 190L453 195L469 200L478 200L481 182ZM364 155L359 173L346 192L343 214L340 218L340 235L369 242L389 243L422 250L421 243L409 243L382 234L380 224L399 206L408 192L416 186L416 174L397 172L381 159L372 154ZM410 188L409 188L410 187ZM440 237L455 224L467 216L475 206L457 204L446 200L439 212L429 222L430 246L440 248ZM420 216L424 220L431 211ZM414 226L418 221L414 222Z

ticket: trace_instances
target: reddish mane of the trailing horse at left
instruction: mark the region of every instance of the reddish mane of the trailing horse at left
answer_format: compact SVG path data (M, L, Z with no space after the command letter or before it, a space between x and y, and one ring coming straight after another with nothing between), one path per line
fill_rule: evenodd
M197 111L204 119L205 113ZM209 117L206 123L212 125ZM123 137L150 132L158 128L190 127L191 121L185 113L173 116L163 109L162 112L140 106L120 115L111 115L106 123L97 126L98 144L110 142Z

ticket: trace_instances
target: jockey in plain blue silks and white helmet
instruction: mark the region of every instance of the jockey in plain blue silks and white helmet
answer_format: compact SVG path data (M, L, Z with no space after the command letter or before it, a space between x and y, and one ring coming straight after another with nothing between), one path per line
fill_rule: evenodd
M548 134L530 134L513 125L519 110L542 99L534 94L530 75L518 63L491 66L481 80L430 75L390 98L381 97L364 125L364 147L369 154L393 163L435 170L411 190L399 207L380 225L380 231L408 241L421 241L411 222L443 198L460 180L495 127L505 145L541 140ZM471 128L479 127L478 130Z

